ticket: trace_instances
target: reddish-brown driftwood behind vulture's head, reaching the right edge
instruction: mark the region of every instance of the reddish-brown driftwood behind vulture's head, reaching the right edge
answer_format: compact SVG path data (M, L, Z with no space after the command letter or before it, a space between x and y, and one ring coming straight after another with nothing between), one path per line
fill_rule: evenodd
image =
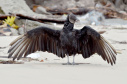
M53 15L63 15L63 14L68 14L68 13L74 13L76 15L83 15L86 14L92 10L99 11L104 14L106 18L121 18L127 20L127 14L124 13L119 13L110 7L101 7L101 8L68 8L68 9L49 9L46 8L46 10Z

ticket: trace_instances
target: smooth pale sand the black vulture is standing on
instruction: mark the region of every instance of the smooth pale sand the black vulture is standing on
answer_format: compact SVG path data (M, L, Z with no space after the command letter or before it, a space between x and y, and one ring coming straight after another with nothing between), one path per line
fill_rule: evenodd
M103 36L119 52L111 66L97 54L88 59L76 55L78 65L63 65L67 58L58 58L47 52L37 52L44 62L30 61L24 64L0 64L1 84L126 84L127 83L127 29L107 29ZM17 36L0 37L0 46L8 46ZM7 57L6 49L0 56ZM45 60L46 58L46 60ZM7 58L0 58L7 59ZM72 62L72 57L70 57Z

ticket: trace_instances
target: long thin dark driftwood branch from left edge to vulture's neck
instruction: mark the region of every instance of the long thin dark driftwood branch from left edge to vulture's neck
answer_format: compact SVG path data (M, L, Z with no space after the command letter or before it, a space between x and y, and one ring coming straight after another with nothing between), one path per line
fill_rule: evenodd
M52 22L52 23L58 23L58 24L63 24L65 20L61 20L58 18L34 18L34 17L30 17L30 16L25 16L22 14L14 14L15 16L17 16L19 19L28 19L28 20L33 20L33 21L38 21L41 23L44 22ZM8 16L14 16L12 15L0 15L0 20L4 20L7 19Z

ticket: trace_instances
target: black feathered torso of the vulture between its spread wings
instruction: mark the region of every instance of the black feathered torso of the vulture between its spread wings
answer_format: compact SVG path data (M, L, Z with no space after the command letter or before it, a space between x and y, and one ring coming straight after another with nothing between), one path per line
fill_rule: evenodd
M71 25L73 26L73 25ZM66 27L66 25L64 25ZM67 26L68 27L68 26ZM63 28L60 32L60 46L65 49L66 55L75 55L77 52L77 38L76 31Z

